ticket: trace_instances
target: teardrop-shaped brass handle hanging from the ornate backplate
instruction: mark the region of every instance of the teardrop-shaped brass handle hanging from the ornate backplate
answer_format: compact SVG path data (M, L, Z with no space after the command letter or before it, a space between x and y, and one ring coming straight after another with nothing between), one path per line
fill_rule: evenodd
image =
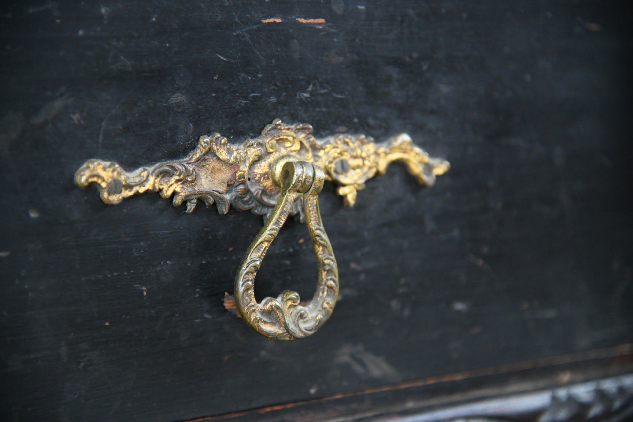
M242 258L235 278L235 303L242 318L261 335L275 340L294 340L315 333L332 314L339 295L339 270L318 208L318 193L325 178L323 170L306 161L287 161L280 167L273 169L273 173L279 172L273 175L273 180L280 182L281 193L268 221ZM301 304L299 294L291 290L258 303L254 295L255 276L297 195L303 195L306 224L315 247L316 292L308 304Z

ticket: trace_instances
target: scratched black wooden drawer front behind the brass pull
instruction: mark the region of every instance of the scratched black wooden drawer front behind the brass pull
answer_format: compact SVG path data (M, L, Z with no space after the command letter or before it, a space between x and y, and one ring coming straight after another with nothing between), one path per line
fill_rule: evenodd
M2 6L0 418L173 421L632 342L623 4ZM453 165L432 189L396 166L351 209L326 185L342 297L296 342L222 304L260 217L72 184L276 117ZM301 239L288 223L258 294L311 294Z

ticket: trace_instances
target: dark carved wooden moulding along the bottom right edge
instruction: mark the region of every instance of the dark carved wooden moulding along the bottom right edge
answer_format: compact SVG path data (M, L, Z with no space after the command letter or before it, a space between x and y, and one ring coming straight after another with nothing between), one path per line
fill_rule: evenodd
M581 352L533 362L529 369L480 368L198 420L624 422L633 415L633 375L620 374L633 369L633 356L606 357L622 349L630 351ZM610 371L618 376L609 377Z

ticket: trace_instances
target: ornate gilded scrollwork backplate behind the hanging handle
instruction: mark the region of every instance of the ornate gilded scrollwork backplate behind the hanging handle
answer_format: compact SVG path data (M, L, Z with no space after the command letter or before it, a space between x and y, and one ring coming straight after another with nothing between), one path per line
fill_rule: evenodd
M91 159L77 171L80 186L96 183L106 204L142 192L159 192L173 197L173 204L196 208L197 199L215 203L220 214L249 209L256 214L272 211L280 188L270 178L271 167L282 156L319 166L325 180L336 183L337 193L346 206L353 206L357 191L376 174L384 174L394 161L402 161L420 184L433 185L436 177L449 170L444 159L431 158L402 133L377 144L364 135L334 135L315 139L307 123L288 125L274 120L256 139L241 146L230 144L218 133L203 136L189 156L151 167L125 171L112 161ZM296 201L291 214L303 216L303 205Z

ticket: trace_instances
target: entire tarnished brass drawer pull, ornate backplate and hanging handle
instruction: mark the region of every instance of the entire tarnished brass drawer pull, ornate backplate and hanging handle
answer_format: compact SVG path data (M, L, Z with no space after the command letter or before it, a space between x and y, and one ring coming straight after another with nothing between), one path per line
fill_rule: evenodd
M382 175L394 161L402 161L418 183L433 185L436 176L449 170L444 159L431 158L415 146L406 133L376 144L364 135L312 136L306 123L286 125L277 119L266 125L260 137L242 146L225 137L200 137L198 146L184 159L165 161L148 168L125 171L112 161L90 159L77 170L75 183L96 183L106 204L118 204L137 193L173 195L173 204L197 200L215 202L218 213L229 206L265 215L265 226L244 255L235 280L235 301L244 319L266 337L292 340L311 335L329 318L339 290L334 253L318 211L317 195L323 181L339 185L346 206L353 206L357 191L376 174ZM318 284L311 302L299 304L296 292L285 291L257 303L253 282L261 259L287 216L299 214L306 221L315 245Z

